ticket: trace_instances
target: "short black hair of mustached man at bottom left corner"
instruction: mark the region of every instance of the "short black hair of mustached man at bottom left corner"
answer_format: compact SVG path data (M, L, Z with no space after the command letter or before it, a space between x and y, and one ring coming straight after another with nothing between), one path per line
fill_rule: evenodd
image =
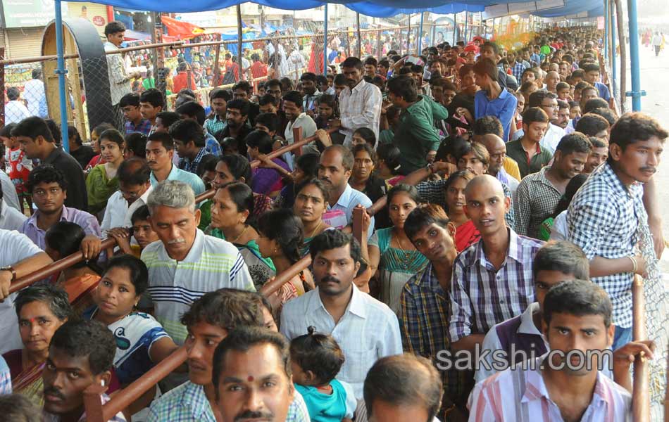
M94 375L109 371L116 353L113 333L100 321L70 319L51 338L49 348L62 350L70 357L88 357Z

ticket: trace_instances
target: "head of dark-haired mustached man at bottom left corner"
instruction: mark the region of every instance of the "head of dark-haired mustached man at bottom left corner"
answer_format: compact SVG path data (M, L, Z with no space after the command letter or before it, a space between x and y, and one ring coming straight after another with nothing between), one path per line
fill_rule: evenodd
M84 390L109 385L116 341L99 321L73 320L63 324L49 345L42 371L44 422L86 421ZM103 403L109 401L101 395ZM118 412L108 422L125 422Z

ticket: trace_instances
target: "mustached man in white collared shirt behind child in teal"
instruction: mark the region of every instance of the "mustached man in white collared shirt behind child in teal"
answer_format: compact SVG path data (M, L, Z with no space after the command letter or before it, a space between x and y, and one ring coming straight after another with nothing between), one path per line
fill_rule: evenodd
M397 316L354 285L361 250L353 236L324 231L313 238L309 252L316 289L284 305L281 333L292 340L315 326L332 335L346 357L337 379L351 384L361 399L365 374L374 362L402 353Z

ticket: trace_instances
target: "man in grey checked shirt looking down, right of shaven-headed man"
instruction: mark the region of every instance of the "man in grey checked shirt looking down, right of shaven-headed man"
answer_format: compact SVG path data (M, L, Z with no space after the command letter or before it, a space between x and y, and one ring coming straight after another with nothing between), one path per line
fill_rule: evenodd
M553 164L528 174L515 191L515 231L539 238L542 222L553 215L569 181L583 171L592 144L580 132L558 143Z

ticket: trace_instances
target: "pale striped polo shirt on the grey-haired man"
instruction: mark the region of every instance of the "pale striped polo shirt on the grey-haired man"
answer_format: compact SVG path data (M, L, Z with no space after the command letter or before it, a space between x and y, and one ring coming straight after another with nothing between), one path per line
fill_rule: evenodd
M142 261L149 269L154 316L177 345L187 335L180 318L201 295L220 288L256 290L239 250L199 229L183 261L173 260L161 241L146 246Z

